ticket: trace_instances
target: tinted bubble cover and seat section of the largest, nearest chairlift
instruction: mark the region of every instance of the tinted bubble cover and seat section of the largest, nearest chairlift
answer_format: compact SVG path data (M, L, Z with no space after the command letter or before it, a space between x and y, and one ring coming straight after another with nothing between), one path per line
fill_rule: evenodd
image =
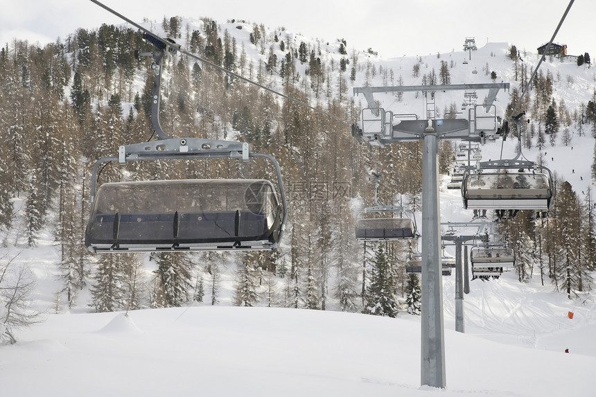
M94 252L270 249L281 213L264 179L106 183L96 193L85 245Z

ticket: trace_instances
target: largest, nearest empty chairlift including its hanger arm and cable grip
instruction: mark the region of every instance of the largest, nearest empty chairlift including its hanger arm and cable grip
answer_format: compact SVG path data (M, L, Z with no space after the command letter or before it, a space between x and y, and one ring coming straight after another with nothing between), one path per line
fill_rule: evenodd
M85 246L96 253L273 249L285 229L286 197L277 161L252 153L247 143L214 139L173 139L159 125L162 59L174 44L146 35L153 57L152 124L159 140L119 148L117 157L98 159L91 179L91 215ZM108 182L96 191L98 167L109 161L230 158L269 159L277 173L266 179L179 179Z

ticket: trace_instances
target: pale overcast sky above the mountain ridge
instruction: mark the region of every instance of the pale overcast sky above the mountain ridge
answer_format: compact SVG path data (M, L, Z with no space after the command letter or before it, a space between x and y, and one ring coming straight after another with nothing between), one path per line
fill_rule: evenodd
M12 38L46 44L76 28L98 28L123 21L89 0L2 0L0 44ZM103 0L133 21L161 23L166 17L210 17L219 23L245 19L268 28L331 42L348 48L372 48L384 58L461 51L466 37L477 46L509 42L536 51L550 40L568 0ZM577 0L555 42L570 55L596 55L593 34L595 0Z

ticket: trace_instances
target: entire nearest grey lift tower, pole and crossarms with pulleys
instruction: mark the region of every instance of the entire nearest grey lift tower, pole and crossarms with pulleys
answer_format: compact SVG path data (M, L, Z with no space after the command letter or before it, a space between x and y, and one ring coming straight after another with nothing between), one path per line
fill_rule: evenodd
M421 384L446 387L445 342L443 326L443 285L441 235L439 233L439 139L482 142L496 134L497 119L493 100L499 89L509 83L484 83L441 86L355 87L369 108L362 109L352 135L359 142L386 145L401 141L422 141L422 312L421 312ZM400 115L375 105L374 93L404 91L447 91L488 89L483 105L468 111L466 119L401 120Z

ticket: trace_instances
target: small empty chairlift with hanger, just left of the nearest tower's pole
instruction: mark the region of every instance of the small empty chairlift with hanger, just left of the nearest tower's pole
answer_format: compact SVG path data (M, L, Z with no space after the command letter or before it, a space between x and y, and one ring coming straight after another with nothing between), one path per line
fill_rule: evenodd
M366 218L356 220L356 239L360 241L380 240L410 240L417 237L416 218L412 211L406 211L402 206L380 205L377 200L378 180L380 175L372 173L375 178L374 206L365 208L365 214L382 214L384 218L367 215ZM394 218L399 213L410 213L411 218ZM387 217L386 215L391 215Z

